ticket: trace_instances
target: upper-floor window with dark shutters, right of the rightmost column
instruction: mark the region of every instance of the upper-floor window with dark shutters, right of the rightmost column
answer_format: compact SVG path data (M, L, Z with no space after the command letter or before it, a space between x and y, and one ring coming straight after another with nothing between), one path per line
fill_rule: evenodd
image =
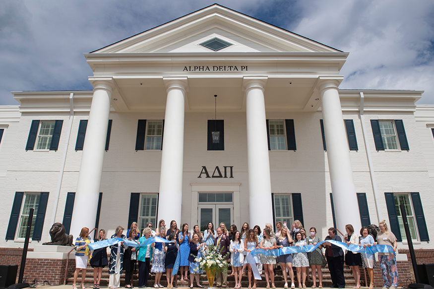
M398 143L401 150L410 150L402 119L371 119L371 126L377 151L398 150Z

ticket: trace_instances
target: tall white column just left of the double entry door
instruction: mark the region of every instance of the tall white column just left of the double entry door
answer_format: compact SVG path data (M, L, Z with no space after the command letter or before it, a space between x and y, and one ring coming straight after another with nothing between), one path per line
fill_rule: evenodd
M163 152L161 155L158 219L181 223L184 161L184 111L186 78L165 78L167 88L164 117ZM168 207L168 205L170 206ZM158 222L158 220L157 220ZM180 225L178 225L180 226Z

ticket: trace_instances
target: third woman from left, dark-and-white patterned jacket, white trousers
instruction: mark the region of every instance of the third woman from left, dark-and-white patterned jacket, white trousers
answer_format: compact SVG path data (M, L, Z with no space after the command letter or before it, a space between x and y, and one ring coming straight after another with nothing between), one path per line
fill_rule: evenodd
M115 230L115 234L112 238L126 239L123 234L124 228L118 226ZM109 262L109 288L119 288L121 285L121 274L124 263L124 250L127 246L124 245L124 241L121 243L114 244L110 246L110 262Z

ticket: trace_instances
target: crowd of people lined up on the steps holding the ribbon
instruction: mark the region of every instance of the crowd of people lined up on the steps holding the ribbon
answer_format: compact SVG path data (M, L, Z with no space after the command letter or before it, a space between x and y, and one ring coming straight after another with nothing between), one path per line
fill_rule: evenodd
M85 289L84 278L87 263L90 263L94 269L94 289L99 289L100 287L102 268L105 266L109 266L109 288L120 287L123 271L125 271L125 288L132 288L132 272L136 265L138 266L139 288L147 286L150 272L155 274L154 288L163 288L160 281L164 272L166 273L167 288L174 288L174 286L177 287L178 278L177 275L172 275L172 270L178 254L180 254L180 280L189 282L190 288L193 288L195 280L196 287L203 288L199 282L199 275L203 273L203 270L196 261L196 257L206 254L205 249L207 247L219 244L223 244L222 250L224 253L226 253L226 250L230 252L230 255L226 254L226 256L230 256L228 262L232 266L231 275L235 276L235 288L241 288L242 278L245 272L247 272L248 289L255 289L256 280L252 273L251 262L245 262L245 256L248 252L254 249L272 250L288 246L316 245L322 241L314 227L311 227L309 233L307 233L307 230L303 228L302 223L298 220L292 224L291 229L287 227L286 222L277 222L276 231L273 231L271 224L265 224L265 229L261 231L258 225L250 229L248 223L243 224L241 231L237 230L236 225L230 226L228 230L224 223L221 223L217 230L214 229L212 223L208 223L207 229L203 232L199 230L199 226L197 225L193 227L192 231L188 229L188 224L183 224L181 229L178 229L176 221L171 221L169 229L166 229L165 221L160 220L155 231L152 230L151 223L148 223L142 232L137 229L137 223L132 223L125 235L124 228L119 226L116 228L115 234L111 236L112 238L118 237L143 243L152 236L159 236L168 241L156 241L140 247L127 246L124 242L120 242L110 246L110 260L108 260L107 248L89 250L88 244L92 242L89 234L94 229L89 231L88 228L83 228L75 241L76 270L74 272L73 289L77 289L76 281L80 270L82 270L81 289ZM347 251L344 254L341 247L328 241L343 241L348 245L359 245L364 248L375 246L376 244L391 245L393 251L395 251L397 247L396 237L392 232L388 231L385 221L380 222L379 229L380 232L376 236L377 241L375 241L373 236L369 234L367 227L361 228L359 236L354 231L352 225L346 225L346 233L343 234L343 240L337 234L337 229L330 228L328 235L324 239L325 242L312 252L297 252L278 257L266 256L264 254L252 255L256 265L255 271L256 269L259 273L262 270L264 271L266 288L270 288L270 283L271 288L276 288L274 285L274 267L276 263L279 263L285 281L284 288L286 289L295 288L293 271L293 267L295 267L298 288L306 288L306 278L310 267L313 281L311 288L316 288L316 279L318 279L318 288L322 288L321 267L328 264L332 280L331 287L344 288L345 263L352 269L356 281L355 289L360 288L359 266L367 269L371 282L369 288L372 289L373 269L376 268L374 255L351 251ZM105 239L106 232L101 229L93 242ZM224 244L227 244L226 249L224 248ZM322 248L325 248L325 254L323 254ZM383 276L383 289L396 289L398 287L398 271L395 255L393 253L378 253L378 260ZM223 274L223 279L220 280L218 275L216 287L225 288L226 286L226 273Z

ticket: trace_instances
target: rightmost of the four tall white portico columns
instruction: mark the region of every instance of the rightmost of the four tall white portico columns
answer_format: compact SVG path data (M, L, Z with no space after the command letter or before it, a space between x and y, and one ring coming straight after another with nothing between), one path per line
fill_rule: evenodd
M351 224L358 232L362 225L350 163L350 149L339 99L338 82L336 80L320 82L319 91L336 227L344 232L345 225Z

